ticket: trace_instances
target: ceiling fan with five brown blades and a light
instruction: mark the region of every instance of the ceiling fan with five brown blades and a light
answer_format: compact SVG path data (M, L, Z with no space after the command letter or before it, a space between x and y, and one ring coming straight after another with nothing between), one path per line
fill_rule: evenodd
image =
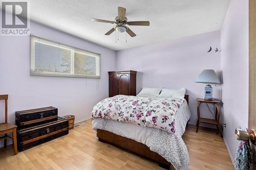
M110 31L108 31L107 33L105 33L105 35L110 35L114 31L118 31L120 33L124 33L126 31L131 37L135 37L136 34L125 25L129 25L129 26L150 26L150 21L127 21L127 18L125 17L125 12L126 12L125 8L118 7L118 16L115 18L115 21L104 20L104 19L96 19L96 18L93 18L92 21L115 23L116 24L116 26L114 28L112 28Z

